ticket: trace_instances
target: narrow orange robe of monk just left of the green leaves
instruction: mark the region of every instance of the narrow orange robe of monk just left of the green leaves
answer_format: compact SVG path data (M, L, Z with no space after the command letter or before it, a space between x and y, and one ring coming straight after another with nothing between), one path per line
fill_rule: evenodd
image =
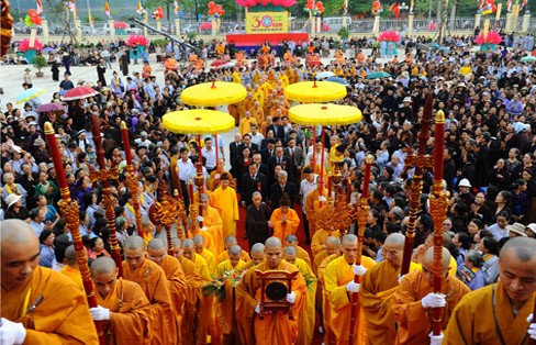
M198 305L198 294L202 296L201 286L204 283L200 276L198 266L191 260L181 257L179 259L180 266L186 276L187 292L185 303L185 318L182 319L181 334L182 344L194 344L196 342L196 312Z

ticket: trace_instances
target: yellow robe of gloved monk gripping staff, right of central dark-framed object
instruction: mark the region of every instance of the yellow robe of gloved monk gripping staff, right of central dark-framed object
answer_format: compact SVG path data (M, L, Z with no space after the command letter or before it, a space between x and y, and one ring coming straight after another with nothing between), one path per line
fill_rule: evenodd
M361 265L369 269L376 265L376 261L370 257L362 256ZM346 285L350 280L354 280L354 267L346 263L344 256L334 259L327 265L324 275L324 287L331 308L330 327L337 338L337 344L348 344L349 342L351 293L346 291ZM365 318L362 318L360 307L358 313L359 318L355 329L357 342L355 344L366 344Z

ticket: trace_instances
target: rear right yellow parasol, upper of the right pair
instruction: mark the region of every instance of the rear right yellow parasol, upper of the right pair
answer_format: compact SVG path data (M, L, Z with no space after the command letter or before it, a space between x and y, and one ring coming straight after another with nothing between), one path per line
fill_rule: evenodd
M284 88L284 98L304 103L333 102L346 97L346 87L333 81L302 81Z

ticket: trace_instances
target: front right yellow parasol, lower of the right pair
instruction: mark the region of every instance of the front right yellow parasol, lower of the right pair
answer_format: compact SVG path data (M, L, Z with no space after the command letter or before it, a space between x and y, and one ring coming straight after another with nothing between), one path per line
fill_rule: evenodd
M289 119L303 125L344 125L361 121L361 111L350 105L300 104L289 109Z

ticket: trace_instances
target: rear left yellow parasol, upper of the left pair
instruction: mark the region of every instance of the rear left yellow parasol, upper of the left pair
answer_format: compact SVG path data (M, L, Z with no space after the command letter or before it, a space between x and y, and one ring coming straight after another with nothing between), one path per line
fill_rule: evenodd
M185 104L216 107L243 101L246 94L246 88L239 84L212 81L186 88L180 99Z

